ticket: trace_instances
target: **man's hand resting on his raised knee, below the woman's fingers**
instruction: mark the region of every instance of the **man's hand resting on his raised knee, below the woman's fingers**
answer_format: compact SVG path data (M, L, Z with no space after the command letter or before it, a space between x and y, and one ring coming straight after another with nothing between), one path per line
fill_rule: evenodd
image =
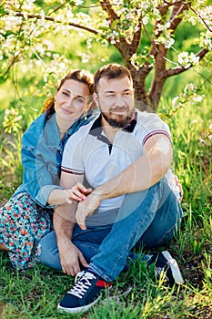
M102 201L101 195L96 194L95 191L88 195L85 201L78 203L76 222L82 230L86 230L86 217L93 215Z

